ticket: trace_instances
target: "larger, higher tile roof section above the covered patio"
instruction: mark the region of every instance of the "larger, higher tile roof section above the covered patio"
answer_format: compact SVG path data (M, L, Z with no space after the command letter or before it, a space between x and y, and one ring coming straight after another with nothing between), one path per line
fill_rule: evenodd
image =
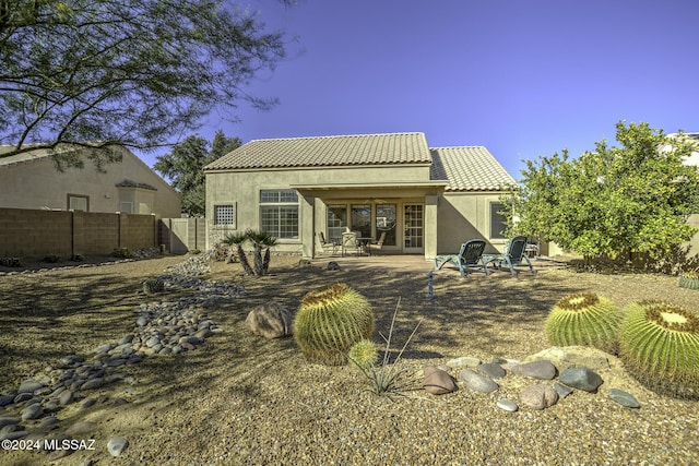
M204 170L429 164L424 133L253 140Z

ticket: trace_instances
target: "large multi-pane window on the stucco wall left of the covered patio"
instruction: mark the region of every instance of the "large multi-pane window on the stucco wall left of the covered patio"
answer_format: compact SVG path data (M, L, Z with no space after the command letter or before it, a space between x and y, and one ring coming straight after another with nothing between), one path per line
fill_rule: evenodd
M260 191L260 229L277 238L298 238L298 194L295 190Z

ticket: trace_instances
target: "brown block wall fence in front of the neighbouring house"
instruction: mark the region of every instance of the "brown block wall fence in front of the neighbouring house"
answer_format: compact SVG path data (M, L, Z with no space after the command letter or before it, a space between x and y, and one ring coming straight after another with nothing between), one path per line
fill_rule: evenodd
M108 255L157 247L154 215L0 208L0 258Z

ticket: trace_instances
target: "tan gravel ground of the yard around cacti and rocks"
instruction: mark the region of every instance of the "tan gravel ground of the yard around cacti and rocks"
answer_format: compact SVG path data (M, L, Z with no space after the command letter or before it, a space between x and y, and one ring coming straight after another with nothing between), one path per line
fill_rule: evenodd
M153 298L139 284L183 258L95 268L0 277L0 394L71 353L118 340L133 330L133 309ZM292 310L309 290L347 283L364 294L386 334L399 298L393 342L402 346L423 319L399 366L418 386L427 363L459 356L489 361L523 359L547 346L544 321L562 296L595 291L620 306L671 299L697 309L699 294L676 278L547 270L535 276L435 278L425 299L423 271L298 267L275 256L272 273L245 277L238 264L212 263L206 277L242 285L246 296L206 309L223 333L178 357L151 357L129 368L133 386L99 390L103 403L70 405L61 428L90 420L95 451L78 451L57 465L289 464L289 465L691 465L699 462L697 402L656 395L626 374L616 382L641 403L624 408L600 393L576 392L552 408L506 413L495 403L517 399L526 383L508 375L495 394L466 389L442 396L419 390L377 396L350 367L309 365L294 340L265 340L245 327L249 310L275 300ZM166 290L161 299L185 291ZM395 354L395 351L393 351ZM614 358L612 358L615 360ZM454 373L455 375L455 373ZM615 382L615 383L616 383ZM619 386L619 385L615 385ZM127 403L114 403L115 401ZM0 416L3 411L0 409ZM129 440L118 458L106 452L115 435ZM93 463L87 463L93 462ZM0 452L0 464L51 464L46 452Z

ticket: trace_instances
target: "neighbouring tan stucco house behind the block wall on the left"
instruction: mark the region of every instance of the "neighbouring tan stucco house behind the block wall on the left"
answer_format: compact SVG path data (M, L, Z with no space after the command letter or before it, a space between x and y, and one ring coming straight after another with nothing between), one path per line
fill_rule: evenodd
M8 146L0 146L7 152ZM121 162L58 171L46 150L0 156L0 207L44 208L180 217L181 196L132 152L114 147ZM88 148L75 148L83 154Z

